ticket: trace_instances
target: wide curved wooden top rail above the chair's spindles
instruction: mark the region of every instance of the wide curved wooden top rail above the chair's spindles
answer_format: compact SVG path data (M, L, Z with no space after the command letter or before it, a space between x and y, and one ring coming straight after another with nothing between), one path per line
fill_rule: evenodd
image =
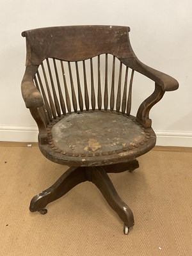
M109 53L117 58L134 55L125 26L61 26L22 32L26 37L26 66L40 65L46 58L81 61Z

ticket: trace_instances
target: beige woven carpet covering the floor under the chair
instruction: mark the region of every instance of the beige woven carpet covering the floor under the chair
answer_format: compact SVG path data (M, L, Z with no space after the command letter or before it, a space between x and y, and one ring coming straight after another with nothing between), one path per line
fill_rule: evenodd
M36 193L67 166L51 163L33 144L0 143L0 255L192 255L192 151L156 148L133 173L109 176L134 212L128 236L99 190L85 182L29 212Z

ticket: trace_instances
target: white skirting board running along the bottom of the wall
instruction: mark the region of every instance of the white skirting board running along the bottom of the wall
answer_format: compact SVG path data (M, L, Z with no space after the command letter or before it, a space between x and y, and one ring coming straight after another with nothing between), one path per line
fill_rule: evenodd
M159 146L192 147L192 132L156 131ZM34 126L0 126L0 141L36 142L38 129Z

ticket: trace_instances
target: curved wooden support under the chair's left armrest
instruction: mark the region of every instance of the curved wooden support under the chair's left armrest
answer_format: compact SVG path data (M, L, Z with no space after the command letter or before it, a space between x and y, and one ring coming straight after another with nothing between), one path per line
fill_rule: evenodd
M40 111L38 108L30 108L31 115L35 119L36 124L38 125L38 131L39 131L39 140L41 145L45 145L48 143L48 137L47 137L47 129L44 122L44 118L40 115Z

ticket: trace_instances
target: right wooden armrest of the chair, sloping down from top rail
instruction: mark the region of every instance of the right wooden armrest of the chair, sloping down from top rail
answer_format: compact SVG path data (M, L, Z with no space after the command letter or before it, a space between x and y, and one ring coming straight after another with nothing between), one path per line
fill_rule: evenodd
M138 58L125 58L120 59L125 65L136 70L137 72L147 76L148 78L152 79L156 84L161 86L161 89L166 91L174 91L179 88L179 83L177 80L163 72L160 72L154 68L148 67L144 63L142 63Z

